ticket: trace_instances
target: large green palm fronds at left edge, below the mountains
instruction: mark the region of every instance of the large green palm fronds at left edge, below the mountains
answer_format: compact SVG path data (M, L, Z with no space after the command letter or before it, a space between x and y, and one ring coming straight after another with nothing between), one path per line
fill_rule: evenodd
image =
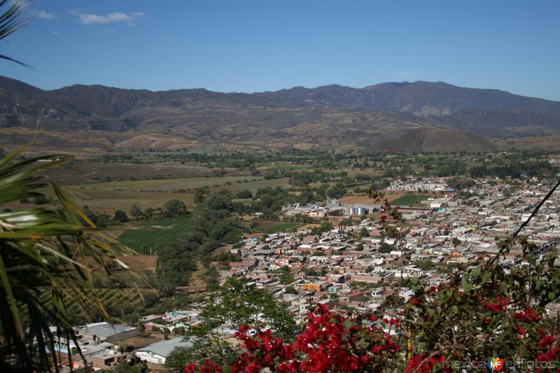
M99 309L109 318L93 288L92 273L111 276L110 268L120 267L115 255L127 253L102 234L55 183L38 176L69 157L15 162L25 148L0 160L0 211L20 199L44 197L45 192L56 198L41 207L22 206L0 213L0 301L5 306L0 308L0 370L9 372L49 370L57 363L57 356L45 352L54 351L54 335L77 344L64 300L71 298L85 310ZM80 264L85 258L98 266ZM52 302L45 303L43 293ZM57 330L52 332L50 325Z

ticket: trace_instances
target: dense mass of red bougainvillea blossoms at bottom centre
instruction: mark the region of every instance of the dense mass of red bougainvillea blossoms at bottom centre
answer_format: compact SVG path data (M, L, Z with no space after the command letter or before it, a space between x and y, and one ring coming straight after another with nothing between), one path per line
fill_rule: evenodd
M240 328L237 337L246 351L232 365L232 373L272 372L363 372L382 371L400 351L391 336L372 325L372 316L346 317L319 305L307 316L302 334L293 344L284 344L271 330L249 337L248 327ZM396 323L393 323L396 324ZM206 363L206 366L210 365ZM189 364L184 373L195 372ZM202 370L200 372L221 372Z

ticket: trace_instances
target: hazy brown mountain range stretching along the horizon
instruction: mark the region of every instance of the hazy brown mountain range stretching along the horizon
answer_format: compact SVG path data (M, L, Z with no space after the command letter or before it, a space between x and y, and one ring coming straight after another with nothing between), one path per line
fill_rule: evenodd
M560 134L560 102L447 83L276 92L41 90L0 77L0 145L81 150L489 151L489 138ZM556 136L557 137L557 136Z

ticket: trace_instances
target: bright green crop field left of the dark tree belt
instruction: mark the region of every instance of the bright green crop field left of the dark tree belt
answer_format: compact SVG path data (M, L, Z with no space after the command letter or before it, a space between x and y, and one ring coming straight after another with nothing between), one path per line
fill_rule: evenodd
M188 225L188 218L136 225L134 229L125 230L118 240L137 253L150 253L150 249L154 250L161 239L176 241Z

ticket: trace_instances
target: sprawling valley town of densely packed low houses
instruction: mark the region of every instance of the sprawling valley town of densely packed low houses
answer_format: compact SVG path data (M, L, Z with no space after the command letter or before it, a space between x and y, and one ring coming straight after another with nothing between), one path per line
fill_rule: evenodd
M497 253L497 241L529 218L548 188L536 178L524 178L515 184L479 179L459 197L442 178L395 181L387 192L438 192L415 206L398 206L406 221L402 241L386 234L379 219L385 209L382 199L372 204L344 204L329 198L323 204L284 206L286 218L334 215L337 220L332 220L332 230L322 234L311 234L311 227L297 232L246 234L228 248L239 254L241 261L220 269L219 279L221 283L230 276L251 279L289 304L290 311L300 319L317 303L334 309L376 311L388 295L398 292L407 299L413 294L406 286L395 286L401 280L417 277L437 286L446 279L442 269L476 265ZM559 206L558 195L547 200L524 230L529 241L543 248L560 241ZM352 223L340 223L343 220ZM519 251L512 250L501 264L507 272L512 266L526 263ZM293 276L293 281L282 281L283 273ZM557 314L559 307L553 303L548 311ZM127 358L162 366L173 349L191 345L181 337L181 330L200 323L201 312L202 304L193 304L190 309L146 315L133 326L83 325L76 328L77 346L59 339L57 352L75 353L79 347L89 365L81 363L80 367L80 360L74 361L76 372L114 367ZM146 330L159 330L160 340L134 351L123 349L130 344L127 341ZM225 338L233 339L235 330L232 325L223 325L222 332Z

